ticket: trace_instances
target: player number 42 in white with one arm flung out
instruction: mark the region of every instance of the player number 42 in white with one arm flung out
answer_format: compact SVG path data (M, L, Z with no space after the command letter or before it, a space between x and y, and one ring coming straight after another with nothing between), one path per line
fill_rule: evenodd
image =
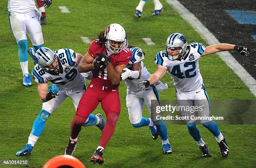
M182 107L203 106L204 108L202 108L202 110L198 110L198 115L207 118L210 116L210 104L199 71L198 60L204 55L227 50L238 50L242 55L251 55L251 51L248 50L248 48L240 45L221 43L208 47L200 43L187 45L187 40L184 35L173 33L166 40L166 51L161 51L156 54L155 63L157 64L157 70L148 80L139 83L139 88L143 90L153 85L160 80L167 71L176 87L177 105ZM211 154L207 145L202 140L200 132L196 127L196 121L191 117L194 116L195 113L186 110L181 110L180 112L182 117L186 118L184 121L187 124L189 134L199 146L202 156L210 157ZM200 120L200 123L215 136L220 146L221 154L223 157L227 157L229 152L228 144L223 134L220 133L217 124L207 119Z

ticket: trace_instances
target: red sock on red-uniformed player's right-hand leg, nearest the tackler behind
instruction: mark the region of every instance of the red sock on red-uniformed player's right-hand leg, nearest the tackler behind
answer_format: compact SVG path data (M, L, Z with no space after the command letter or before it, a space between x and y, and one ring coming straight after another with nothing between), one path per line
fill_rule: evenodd
M118 113L110 112L107 114L107 122L105 128L102 130L99 146L102 146L103 148L106 147L108 141L115 131L115 125L118 121L118 118Z

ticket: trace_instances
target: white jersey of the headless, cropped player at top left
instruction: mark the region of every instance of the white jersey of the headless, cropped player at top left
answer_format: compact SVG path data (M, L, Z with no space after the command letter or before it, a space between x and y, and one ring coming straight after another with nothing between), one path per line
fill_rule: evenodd
M28 13L36 8L35 0L8 0L8 11Z

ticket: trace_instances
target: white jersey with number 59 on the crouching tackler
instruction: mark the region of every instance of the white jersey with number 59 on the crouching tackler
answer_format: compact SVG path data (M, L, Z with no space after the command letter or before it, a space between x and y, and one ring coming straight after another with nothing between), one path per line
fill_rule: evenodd
M74 50L64 48L54 51L61 62L63 73L52 75L45 72L40 65L36 64L32 70L32 75L37 83L47 83L50 81L58 85L60 90L82 88L85 85L84 77L78 72L75 63L77 56Z

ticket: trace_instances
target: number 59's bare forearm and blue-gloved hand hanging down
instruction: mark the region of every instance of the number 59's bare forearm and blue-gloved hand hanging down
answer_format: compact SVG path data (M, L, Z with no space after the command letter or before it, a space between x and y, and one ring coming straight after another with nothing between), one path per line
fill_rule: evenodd
M55 98L55 96L59 92L59 88L57 87L57 85L52 84L51 86L48 85L48 83L38 83L37 90L39 98L42 102L47 102Z

